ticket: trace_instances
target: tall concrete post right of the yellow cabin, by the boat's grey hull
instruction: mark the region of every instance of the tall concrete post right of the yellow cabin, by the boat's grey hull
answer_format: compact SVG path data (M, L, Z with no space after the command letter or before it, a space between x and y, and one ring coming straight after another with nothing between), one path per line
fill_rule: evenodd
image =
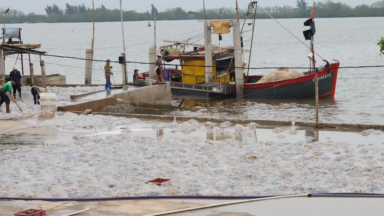
M233 48L235 49L235 76L236 76L236 97L244 96L243 60L240 40L240 23L232 21L233 27Z

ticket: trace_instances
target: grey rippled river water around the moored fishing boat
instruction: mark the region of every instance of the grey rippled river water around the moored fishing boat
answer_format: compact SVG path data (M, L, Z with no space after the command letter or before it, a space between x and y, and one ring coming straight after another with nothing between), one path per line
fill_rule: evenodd
M306 19L279 19L278 21L304 41L303 22ZM148 48L154 43L154 23L147 21L124 22L124 37L128 61L148 62ZM40 51L49 55L85 58L85 49L91 48L92 23L23 23L7 24L7 28L22 28L24 43L41 43ZM245 25L245 29L250 26ZM377 41L383 37L384 17L364 18L316 18L315 51L324 59L340 61L340 66L384 65L379 56ZM308 48L284 30L274 20L257 20L250 67L308 67ZM185 40L204 43L203 22L197 20L174 20L156 22L156 45L166 45L162 39ZM200 35L199 35L200 34ZM196 38L195 36L200 37ZM222 35L220 46L232 46L232 32ZM243 38L248 40L251 32ZM219 45L218 36L212 35L212 43ZM245 48L249 47L245 42ZM309 41L305 42L309 45ZM95 24L94 56L97 60L118 61L124 52L120 22ZM192 46L187 47L192 50ZM11 71L16 55L8 56L6 71ZM25 55L25 59L28 57ZM38 56L31 55L38 74ZM324 65L316 56L317 65ZM46 73L66 75L67 83L84 83L84 60L42 56ZM248 57L246 56L248 61ZM176 61L171 63L176 64ZM17 62L20 67L20 61ZM116 83L122 82L121 66L111 63ZM94 63L92 83L104 83L104 62ZM28 61L24 62L25 74L29 74ZM148 65L128 64L128 81L133 70L147 71ZM273 69L270 69L273 70ZM250 74L265 74L270 70L250 70ZM383 124L384 75L380 67L340 68L334 99L319 101L320 121ZM7 72L8 73L8 72ZM175 101L177 103L177 101ZM265 120L311 120L315 119L314 100L240 100L228 105L197 107L177 111L178 115L226 116L233 118L255 118Z

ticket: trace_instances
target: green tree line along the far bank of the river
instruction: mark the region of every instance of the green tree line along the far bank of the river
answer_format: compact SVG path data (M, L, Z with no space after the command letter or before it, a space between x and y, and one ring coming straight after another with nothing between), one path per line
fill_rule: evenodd
M263 8L274 18L309 18L311 16L312 5L308 5L305 0L297 0L296 7L292 6L274 6ZM124 21L141 21L153 20L154 12L156 11L156 20L187 20L195 18L198 20L204 19L204 10L188 11L180 7L167 8L163 12L158 12L154 5L151 5L151 11L147 10L144 13L134 10L124 11ZM5 16L7 23L59 23L59 22L92 22L92 8L81 5L70 5L66 3L65 9L62 10L56 4L47 5L45 8L46 15L38 15L36 13L25 14L17 10L10 10ZM239 9L239 13L246 12L245 8ZM5 10L0 10L0 14L4 14ZM107 9L104 5L94 9L95 22L115 22L120 21L120 10ZM193 14L193 15L192 15ZM316 3L316 18L325 17L383 17L384 16L384 0L377 1L372 5L361 4L356 7L351 7L345 3L333 2L326 0L325 2ZM216 8L206 9L205 16L209 20L214 19L233 19L236 17L235 8ZM270 18L262 10L257 10L257 18Z

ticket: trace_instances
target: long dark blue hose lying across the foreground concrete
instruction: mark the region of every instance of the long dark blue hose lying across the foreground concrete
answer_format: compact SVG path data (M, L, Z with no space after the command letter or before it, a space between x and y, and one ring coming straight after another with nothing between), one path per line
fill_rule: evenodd
M343 196L343 197L383 197L379 193L314 193L311 196ZM257 199L273 196L121 196L121 197L100 197L100 198L29 198L29 197L0 197L8 200L41 200L41 201L94 201L94 200L113 200L113 199Z

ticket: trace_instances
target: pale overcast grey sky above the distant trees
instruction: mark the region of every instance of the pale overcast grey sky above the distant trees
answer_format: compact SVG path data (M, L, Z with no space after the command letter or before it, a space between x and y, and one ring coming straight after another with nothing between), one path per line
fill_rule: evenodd
M319 1L324 2L325 0ZM342 2L355 7L356 5L361 5L363 3L371 5L378 0L333 0L333 2ZM220 7L236 7L235 0L204 0L205 8L220 8ZM308 4L313 2L306 0ZM47 5L53 5L55 3L61 9L65 9L65 3L70 5L79 5L84 3L86 7L92 8L92 0L13 0L13 1L1 1L0 8L11 7L18 11L24 13L37 13L37 14L46 14L44 8ZM247 8L250 0L238 0L239 8ZM120 8L119 0L94 0L94 7L100 7L103 4L106 8L114 9ZM151 11L151 4L157 8L158 11L164 11L167 8L181 7L185 11L196 11L203 8L203 0L122 0L122 9L123 10L135 10L137 12L146 12L147 10ZM283 6L290 5L296 6L296 0L259 0L258 5L260 7L266 6Z

